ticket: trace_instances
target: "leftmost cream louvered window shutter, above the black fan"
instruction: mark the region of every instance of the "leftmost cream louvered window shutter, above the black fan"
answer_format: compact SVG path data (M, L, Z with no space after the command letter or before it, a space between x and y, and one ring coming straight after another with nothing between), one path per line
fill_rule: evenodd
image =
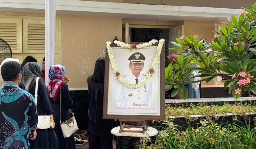
M22 53L22 19L0 18L0 38L11 47L12 53Z

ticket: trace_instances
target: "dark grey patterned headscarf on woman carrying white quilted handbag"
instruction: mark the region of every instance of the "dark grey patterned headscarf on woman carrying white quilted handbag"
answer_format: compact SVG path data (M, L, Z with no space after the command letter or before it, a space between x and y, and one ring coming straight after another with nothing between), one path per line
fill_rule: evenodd
M30 92L33 85L36 83L36 78L42 75L42 66L36 62L28 62L22 69L21 82L25 86L25 90Z

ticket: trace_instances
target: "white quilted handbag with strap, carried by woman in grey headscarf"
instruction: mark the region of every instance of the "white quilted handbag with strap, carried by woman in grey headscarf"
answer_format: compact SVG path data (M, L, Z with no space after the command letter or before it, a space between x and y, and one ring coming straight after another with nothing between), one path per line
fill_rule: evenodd
M39 77L36 78L35 103L37 102L38 80L39 80ZM36 129L48 129L50 127L51 127L50 116L49 115L39 115Z

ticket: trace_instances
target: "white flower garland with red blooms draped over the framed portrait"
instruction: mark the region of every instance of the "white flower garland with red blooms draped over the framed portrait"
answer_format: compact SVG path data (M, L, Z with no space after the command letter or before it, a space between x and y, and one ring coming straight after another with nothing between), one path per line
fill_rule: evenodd
M157 42L157 40L153 39L149 42L145 42L143 44L138 44L138 45L131 45L131 44L128 44L128 43L123 43L123 42L120 42L120 41L117 41L115 40L114 43L117 44L119 47L122 47L122 48L129 48L131 49L132 51L132 48L137 48L137 49L140 49L140 48L146 48L147 46L151 46L153 44L155 44ZM121 74L119 73L119 71L117 70L117 65L116 65L116 62L115 62L115 59L114 59L114 56L113 56L113 50L112 48L110 47L110 44L111 42L110 41L107 41L106 42L106 47L108 49L108 53L109 53L109 60L110 60L110 63L111 63L111 66L112 66L112 69L114 70L115 72L115 75L117 76L117 80L119 80L121 83L124 84L124 86L126 87L130 87L130 88L139 88L141 86L143 86L144 84L147 83L147 81L152 77L152 74L155 72L154 68L156 67L156 65L158 64L159 62L159 57L160 57L160 54L161 54L161 51L162 51L162 48L163 48L163 45L164 45L164 39L161 39L158 43L158 47L156 48L156 56L154 57L153 59L153 62L151 64L151 68L149 69L149 71L147 72L147 75L146 77L140 81L138 84L132 84L132 83L128 83L122 76Z

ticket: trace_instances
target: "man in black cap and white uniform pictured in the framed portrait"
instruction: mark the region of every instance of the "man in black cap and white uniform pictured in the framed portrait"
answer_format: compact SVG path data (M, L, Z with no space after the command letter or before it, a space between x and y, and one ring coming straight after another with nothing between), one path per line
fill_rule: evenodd
M123 76L123 78L131 84L138 84L142 81L146 75L142 74L144 68L144 61L146 57L140 53L135 52L128 58L130 61L129 69L130 73ZM128 68L128 67L127 67ZM116 107L151 107L152 102L152 83L151 79L146 84L139 88L130 88L121 85L117 87L116 92Z

